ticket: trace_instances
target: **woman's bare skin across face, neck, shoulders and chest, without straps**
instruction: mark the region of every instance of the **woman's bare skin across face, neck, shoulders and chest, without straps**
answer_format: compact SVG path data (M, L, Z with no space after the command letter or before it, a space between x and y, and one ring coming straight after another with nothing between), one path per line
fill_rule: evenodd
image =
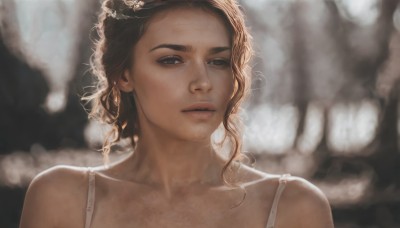
M175 44L186 51L154 47ZM92 226L148 228L264 228L279 176L245 165L235 179L220 179L224 160L210 137L221 123L233 90L230 47L221 19L204 10L176 8L156 15L133 50L134 61L118 86L132 92L139 114L135 152L109 168L96 169ZM152 50L152 51L150 51ZM227 61L228 60L228 61ZM183 109L197 102L215 107L207 118ZM21 228L84 227L88 177L85 169L59 166L31 183ZM292 177L279 202L277 228L332 228L325 196Z

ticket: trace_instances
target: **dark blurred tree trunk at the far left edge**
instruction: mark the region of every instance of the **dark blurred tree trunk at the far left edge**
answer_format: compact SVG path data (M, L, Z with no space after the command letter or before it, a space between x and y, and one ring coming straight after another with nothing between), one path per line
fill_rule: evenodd
M48 114L42 108L49 92L43 72L23 58L15 3L0 4L0 154L29 151L42 140Z

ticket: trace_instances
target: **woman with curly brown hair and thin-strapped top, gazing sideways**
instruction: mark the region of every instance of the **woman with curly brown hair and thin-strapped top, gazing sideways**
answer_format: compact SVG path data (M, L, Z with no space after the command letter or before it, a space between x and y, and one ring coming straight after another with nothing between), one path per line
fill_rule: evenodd
M104 144L134 150L105 167L55 167L31 183L22 228L333 227L307 181L240 165L236 113L252 51L235 0L105 0L91 115ZM231 153L211 134L221 125Z

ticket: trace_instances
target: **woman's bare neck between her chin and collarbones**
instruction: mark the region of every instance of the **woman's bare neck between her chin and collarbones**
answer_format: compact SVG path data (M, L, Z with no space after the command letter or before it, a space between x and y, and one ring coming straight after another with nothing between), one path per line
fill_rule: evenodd
M222 160L208 142L141 137L131 161L138 181L160 187L168 197L182 188L220 184Z

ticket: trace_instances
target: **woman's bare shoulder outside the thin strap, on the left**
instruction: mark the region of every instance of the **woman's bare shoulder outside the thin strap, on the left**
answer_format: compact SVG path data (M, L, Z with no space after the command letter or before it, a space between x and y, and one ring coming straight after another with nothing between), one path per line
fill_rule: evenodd
M63 227L64 220L77 219L85 205L86 189L83 168L56 166L39 173L27 190L21 227Z

